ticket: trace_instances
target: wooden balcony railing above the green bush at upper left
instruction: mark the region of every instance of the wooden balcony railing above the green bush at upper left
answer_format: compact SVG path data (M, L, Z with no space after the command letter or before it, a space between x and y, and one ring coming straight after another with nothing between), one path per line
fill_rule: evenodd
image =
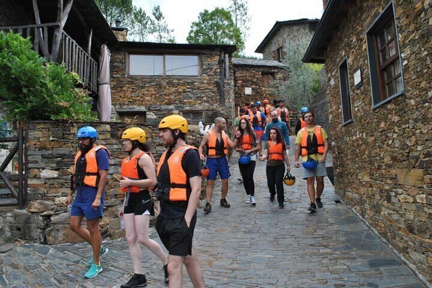
M40 25L0 27L0 31L13 31L24 38L32 38L34 50L43 55L44 51L48 51L48 29L52 30L58 26L59 23L45 23ZM97 92L97 62L66 32L63 32L62 35L57 62L65 63L68 71L77 73L86 87Z

